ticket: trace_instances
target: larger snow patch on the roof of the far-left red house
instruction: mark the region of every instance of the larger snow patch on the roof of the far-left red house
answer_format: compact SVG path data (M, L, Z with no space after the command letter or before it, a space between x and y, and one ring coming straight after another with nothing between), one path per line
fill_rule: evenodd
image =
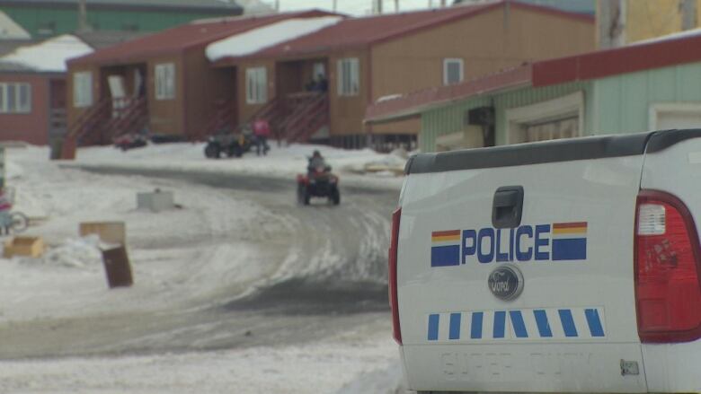
M64 34L36 45L20 47L0 57L0 64L17 65L39 72L65 73L66 61L93 52L93 48L77 37Z

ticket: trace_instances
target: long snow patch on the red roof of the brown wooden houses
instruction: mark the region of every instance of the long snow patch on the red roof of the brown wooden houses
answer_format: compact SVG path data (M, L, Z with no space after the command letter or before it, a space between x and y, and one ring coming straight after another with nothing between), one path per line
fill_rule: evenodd
M253 31L246 31L221 39L207 47L207 57L217 61L224 57L243 57L282 42L320 31L342 21L341 16L296 18L272 23Z

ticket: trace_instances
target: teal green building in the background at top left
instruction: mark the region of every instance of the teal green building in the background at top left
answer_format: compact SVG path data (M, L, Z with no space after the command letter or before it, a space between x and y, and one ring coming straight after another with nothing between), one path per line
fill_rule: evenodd
M0 0L6 13L34 39L79 29L78 0ZM85 0L93 31L150 32L196 19L244 13L234 0Z

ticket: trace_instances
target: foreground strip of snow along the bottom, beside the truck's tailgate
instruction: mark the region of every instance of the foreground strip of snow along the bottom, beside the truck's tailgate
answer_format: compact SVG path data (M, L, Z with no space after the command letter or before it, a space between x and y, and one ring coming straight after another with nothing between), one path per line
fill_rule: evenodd
M305 346L0 362L0 392L395 394L395 343L377 327Z

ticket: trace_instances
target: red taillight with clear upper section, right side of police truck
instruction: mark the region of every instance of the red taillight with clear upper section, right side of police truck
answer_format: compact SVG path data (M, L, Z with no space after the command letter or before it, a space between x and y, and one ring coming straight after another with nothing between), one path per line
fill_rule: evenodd
M686 342L701 337L701 250L687 206L668 193L641 191L634 248L641 341Z

